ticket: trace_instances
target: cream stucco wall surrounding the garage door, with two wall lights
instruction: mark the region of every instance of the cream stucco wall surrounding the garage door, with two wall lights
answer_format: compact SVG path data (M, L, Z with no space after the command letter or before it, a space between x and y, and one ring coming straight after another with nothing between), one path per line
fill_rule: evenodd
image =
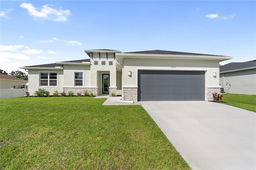
M219 61L216 60L124 58L124 88L138 88L138 70L205 71L205 100L207 88L220 88ZM132 76L128 76L128 71L132 71ZM216 72L216 77L213 77L213 72Z

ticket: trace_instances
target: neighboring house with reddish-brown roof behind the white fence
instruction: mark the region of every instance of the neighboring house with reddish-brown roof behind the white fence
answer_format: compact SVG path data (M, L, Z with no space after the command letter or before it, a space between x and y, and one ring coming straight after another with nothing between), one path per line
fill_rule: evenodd
M0 74L0 89L21 88L26 86L27 80Z

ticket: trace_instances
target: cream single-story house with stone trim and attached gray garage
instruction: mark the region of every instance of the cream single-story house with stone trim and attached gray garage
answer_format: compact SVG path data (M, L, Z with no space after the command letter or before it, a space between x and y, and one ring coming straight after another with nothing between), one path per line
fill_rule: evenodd
M84 90L124 101L212 100L220 92L220 55L175 51L84 50L90 59L20 67L28 70L29 92Z

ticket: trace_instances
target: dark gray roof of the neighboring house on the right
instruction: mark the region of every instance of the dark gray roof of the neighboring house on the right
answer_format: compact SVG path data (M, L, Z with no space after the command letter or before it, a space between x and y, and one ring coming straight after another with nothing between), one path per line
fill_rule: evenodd
M244 63L225 64L223 66L220 66L220 72L237 70L237 69L242 69L242 68L250 68L250 67L256 67L256 60L246 61Z

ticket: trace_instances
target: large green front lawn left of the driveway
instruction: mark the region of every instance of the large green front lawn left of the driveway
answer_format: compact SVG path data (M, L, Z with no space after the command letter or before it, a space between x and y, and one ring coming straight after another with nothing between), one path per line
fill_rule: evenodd
M0 100L0 169L190 169L141 106Z

